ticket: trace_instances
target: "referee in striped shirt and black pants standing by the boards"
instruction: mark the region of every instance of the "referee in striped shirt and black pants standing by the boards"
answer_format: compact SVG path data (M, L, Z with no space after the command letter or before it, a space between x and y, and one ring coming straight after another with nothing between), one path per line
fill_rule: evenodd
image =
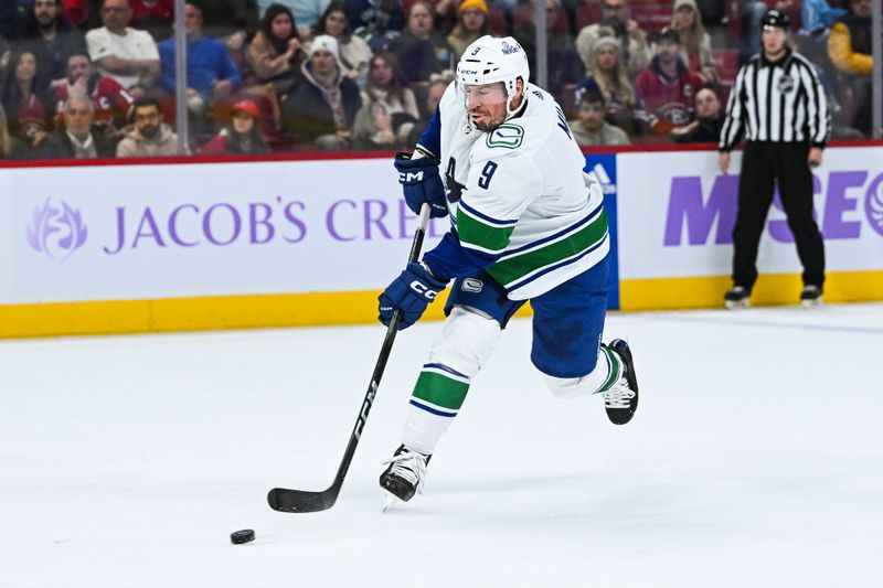
M812 173L830 133L828 104L815 66L787 43L788 17L768 10L760 21L763 52L736 74L721 130L721 173L730 151L745 136L733 227L733 287L726 308L747 308L757 280L757 246L773 203L774 182L804 266L804 306L821 302L825 244L812 220Z

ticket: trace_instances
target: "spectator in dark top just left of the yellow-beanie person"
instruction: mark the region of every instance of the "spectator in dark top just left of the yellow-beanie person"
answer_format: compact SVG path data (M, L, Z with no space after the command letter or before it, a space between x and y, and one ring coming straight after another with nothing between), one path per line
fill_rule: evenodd
M428 82L429 75L453 71L454 50L447 40L435 31L433 8L424 0L416 0L405 14L407 26L390 44L402 72L412 84Z

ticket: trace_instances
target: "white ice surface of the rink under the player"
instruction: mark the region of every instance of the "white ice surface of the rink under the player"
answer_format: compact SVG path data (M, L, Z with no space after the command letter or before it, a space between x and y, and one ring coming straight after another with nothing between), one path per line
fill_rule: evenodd
M400 334L317 514L266 492L331 482L382 327L0 342L0 587L883 586L883 304L613 314L624 427L545 392L513 321L383 514L437 328Z

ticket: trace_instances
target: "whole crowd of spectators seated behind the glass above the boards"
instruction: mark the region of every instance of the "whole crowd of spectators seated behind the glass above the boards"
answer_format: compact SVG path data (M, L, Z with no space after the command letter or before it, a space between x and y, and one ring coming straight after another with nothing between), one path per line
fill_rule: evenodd
M818 65L834 138L872 135L871 0L187 0L188 150L412 148L472 41L512 35L535 75L531 2L581 145L716 141L767 8ZM175 154L173 11L0 2L0 160Z

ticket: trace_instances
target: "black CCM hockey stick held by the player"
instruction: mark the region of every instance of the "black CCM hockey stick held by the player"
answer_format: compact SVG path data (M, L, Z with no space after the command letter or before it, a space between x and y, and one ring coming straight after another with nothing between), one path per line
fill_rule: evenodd
M421 207L419 223L414 233L414 240L411 244L411 254L407 257L408 261L416 261L419 257L421 248L423 247L423 237L426 235L426 225L429 223L429 205L424 204ZM320 492L310 492L307 490L289 490L286 488L274 488L267 494L267 502L274 511L286 513L315 513L326 511L334 505L340 494L340 488L343 485L343 478L347 477L347 470L350 469L350 462L355 453L355 447L359 445L359 439L362 437L362 429L368 420L368 414L371 406L374 404L374 396L377 394L377 386L380 386L380 378L383 376L383 371L386 368L386 360L390 359L390 352L393 349L395 335L398 332L398 310L393 312L390 320L390 325L386 328L386 336L383 339L383 345L380 348L380 356L377 363L374 365L374 373L371 375L371 383L368 385L364 400L362 400L362 408L355 419L355 427L350 434L350 442L347 445L347 450L343 452L343 459L338 468L338 474L334 477L333 483Z

